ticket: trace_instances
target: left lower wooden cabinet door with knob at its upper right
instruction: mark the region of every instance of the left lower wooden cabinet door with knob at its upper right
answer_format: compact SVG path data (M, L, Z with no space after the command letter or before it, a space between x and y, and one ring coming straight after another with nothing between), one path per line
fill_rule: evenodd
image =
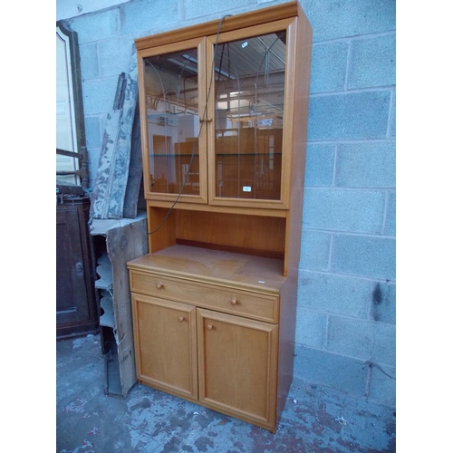
M196 308L131 294L137 379L198 400Z

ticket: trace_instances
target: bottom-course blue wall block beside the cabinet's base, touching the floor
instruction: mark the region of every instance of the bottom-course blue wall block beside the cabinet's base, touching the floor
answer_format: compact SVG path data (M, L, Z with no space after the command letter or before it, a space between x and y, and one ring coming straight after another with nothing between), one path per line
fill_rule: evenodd
M294 348L294 378L338 389L362 397L368 366L352 357L304 347Z

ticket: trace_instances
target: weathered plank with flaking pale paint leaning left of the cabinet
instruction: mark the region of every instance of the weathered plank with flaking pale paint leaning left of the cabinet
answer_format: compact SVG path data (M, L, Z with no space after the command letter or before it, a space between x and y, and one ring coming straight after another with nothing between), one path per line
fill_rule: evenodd
M124 77L120 76L113 110L107 116L92 192L92 218L123 217L130 167L130 137L137 96L137 60L135 51L132 50L129 72Z

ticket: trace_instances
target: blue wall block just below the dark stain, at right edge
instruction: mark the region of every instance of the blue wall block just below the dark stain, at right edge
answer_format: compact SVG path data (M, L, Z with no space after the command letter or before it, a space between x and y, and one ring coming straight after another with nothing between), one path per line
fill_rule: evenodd
M332 314L326 349L362 361L395 366L395 326Z

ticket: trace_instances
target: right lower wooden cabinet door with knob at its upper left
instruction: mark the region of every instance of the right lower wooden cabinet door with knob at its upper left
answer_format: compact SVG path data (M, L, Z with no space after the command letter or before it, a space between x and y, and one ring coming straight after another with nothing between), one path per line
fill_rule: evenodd
M197 310L199 400L275 431L278 326Z

